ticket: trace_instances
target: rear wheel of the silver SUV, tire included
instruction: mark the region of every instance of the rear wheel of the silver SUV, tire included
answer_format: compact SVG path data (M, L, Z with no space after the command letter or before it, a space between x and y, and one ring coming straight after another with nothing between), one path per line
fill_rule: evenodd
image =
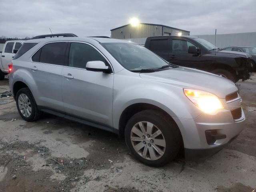
M26 121L35 121L40 117L40 111L29 88L18 90L16 106L20 116Z

